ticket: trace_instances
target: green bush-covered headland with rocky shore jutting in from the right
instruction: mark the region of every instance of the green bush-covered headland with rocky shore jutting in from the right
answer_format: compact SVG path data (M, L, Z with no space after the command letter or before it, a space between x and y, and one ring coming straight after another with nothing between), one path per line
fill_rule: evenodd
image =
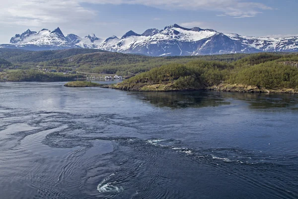
M191 61L168 64L136 75L114 89L134 91L214 90L249 93L298 93L298 56L253 54L233 63Z

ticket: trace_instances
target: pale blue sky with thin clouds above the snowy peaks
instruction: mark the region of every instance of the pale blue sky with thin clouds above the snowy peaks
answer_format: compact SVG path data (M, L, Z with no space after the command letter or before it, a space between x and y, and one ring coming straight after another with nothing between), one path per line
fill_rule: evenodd
M58 26L65 35L119 38L133 30L212 28L249 36L298 36L298 0L0 0L0 43Z

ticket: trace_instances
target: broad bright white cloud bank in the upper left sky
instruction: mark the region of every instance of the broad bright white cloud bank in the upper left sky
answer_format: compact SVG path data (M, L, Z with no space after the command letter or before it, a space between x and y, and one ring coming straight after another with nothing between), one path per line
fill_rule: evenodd
M0 23L24 26L86 21L94 16L95 10L75 0L9 0L0 7Z

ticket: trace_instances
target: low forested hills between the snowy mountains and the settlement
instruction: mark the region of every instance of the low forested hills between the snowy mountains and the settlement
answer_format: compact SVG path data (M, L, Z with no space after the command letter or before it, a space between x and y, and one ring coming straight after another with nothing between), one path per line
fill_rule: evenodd
M28 70L36 66L58 69L75 68L79 72L134 76L169 63L187 63L191 60L233 62L247 54L210 56L149 57L114 53L94 49L68 49L55 51L25 51L0 48L0 58L12 62L15 68Z

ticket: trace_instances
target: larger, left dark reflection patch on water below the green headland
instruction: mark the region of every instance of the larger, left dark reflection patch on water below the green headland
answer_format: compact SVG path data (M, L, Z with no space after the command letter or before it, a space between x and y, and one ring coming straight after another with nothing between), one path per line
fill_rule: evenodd
M210 92L133 92L140 100L149 101L157 107L187 108L229 104L220 93Z

